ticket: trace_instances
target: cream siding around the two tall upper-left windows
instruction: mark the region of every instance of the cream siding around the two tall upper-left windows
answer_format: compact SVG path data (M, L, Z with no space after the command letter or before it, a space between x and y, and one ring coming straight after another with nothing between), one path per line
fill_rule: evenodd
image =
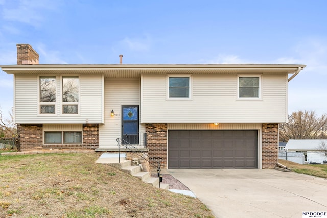
M56 113L39 114L39 75L15 75L15 121L18 124L103 123L102 75L80 75L79 113L62 114L61 76L57 75Z

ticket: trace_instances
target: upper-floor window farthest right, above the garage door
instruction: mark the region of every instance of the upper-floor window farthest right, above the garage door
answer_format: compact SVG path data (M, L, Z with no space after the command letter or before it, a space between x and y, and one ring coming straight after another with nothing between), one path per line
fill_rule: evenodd
M261 76L238 76L238 98L261 98Z

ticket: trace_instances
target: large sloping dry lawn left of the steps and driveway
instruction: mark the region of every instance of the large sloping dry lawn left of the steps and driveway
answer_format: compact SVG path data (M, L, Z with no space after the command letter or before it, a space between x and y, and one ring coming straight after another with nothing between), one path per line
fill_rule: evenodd
M214 217L198 199L154 188L99 154L0 157L0 217Z

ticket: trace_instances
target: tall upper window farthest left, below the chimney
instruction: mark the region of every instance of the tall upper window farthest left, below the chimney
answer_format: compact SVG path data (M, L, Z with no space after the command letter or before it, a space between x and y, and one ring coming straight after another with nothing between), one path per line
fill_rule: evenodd
M40 114L56 113L56 77L40 77Z

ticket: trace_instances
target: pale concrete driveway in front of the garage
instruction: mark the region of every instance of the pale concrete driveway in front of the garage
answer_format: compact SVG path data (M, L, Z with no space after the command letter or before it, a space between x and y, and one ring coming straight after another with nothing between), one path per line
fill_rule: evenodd
M327 179L275 169L169 169L217 218L327 211Z

